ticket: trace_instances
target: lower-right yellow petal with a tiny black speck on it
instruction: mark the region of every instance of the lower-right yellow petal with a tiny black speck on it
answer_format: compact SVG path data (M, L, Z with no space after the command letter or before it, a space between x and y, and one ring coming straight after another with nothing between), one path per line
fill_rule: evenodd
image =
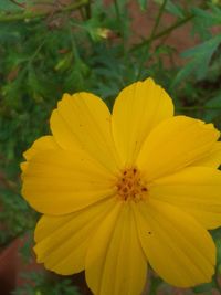
M164 281L179 287L211 281L215 246L192 217L156 200L137 203L134 211L147 260Z

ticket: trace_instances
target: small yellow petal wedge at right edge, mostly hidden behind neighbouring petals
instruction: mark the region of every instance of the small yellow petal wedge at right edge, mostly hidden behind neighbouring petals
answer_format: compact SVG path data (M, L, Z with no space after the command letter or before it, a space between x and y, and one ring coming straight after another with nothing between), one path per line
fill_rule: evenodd
M215 143L209 154L204 158L193 162L193 165L219 168L221 165L221 143Z

